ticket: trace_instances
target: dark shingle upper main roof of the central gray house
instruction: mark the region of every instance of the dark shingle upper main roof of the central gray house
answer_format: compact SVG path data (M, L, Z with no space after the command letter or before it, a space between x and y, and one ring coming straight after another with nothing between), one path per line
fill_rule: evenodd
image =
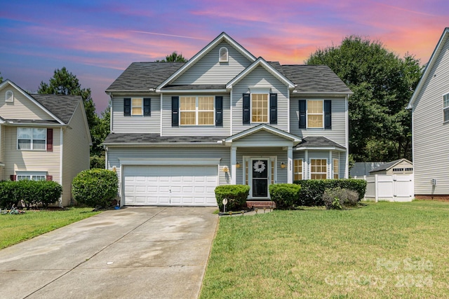
M297 92L351 92L326 65L268 63L295 83ZM148 91L159 86L183 65L183 62L133 62L106 91ZM163 89L221 89L222 86L170 85Z

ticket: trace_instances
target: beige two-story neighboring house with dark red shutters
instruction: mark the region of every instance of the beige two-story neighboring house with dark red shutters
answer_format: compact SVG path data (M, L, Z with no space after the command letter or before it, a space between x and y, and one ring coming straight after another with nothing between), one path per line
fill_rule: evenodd
M0 84L0 180L56 181L65 206L72 179L89 168L90 145L81 97L30 95L9 80Z

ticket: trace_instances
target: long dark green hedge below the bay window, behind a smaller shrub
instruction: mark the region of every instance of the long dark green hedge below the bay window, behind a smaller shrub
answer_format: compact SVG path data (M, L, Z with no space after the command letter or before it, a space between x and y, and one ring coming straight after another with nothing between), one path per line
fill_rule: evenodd
M324 190L330 188L345 188L358 193L358 200L365 196L366 181L363 179L324 179L324 180L302 180L293 183L301 186L300 196L297 205L302 206L323 206Z

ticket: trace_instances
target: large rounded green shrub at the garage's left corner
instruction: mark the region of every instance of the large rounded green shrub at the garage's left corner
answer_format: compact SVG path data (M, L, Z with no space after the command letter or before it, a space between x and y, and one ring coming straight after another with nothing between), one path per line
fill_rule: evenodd
M74 200L91 207L109 207L119 190L119 179L108 169L83 170L72 181Z

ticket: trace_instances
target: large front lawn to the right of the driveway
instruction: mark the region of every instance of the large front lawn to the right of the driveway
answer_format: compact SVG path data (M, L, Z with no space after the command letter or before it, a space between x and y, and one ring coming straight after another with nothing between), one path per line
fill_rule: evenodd
M449 203L220 218L200 298L447 298Z

